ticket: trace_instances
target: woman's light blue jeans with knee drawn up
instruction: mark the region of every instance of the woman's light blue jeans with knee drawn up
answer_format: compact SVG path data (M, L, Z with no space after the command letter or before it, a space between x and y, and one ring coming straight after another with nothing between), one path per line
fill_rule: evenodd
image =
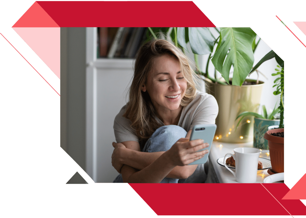
M142 152L168 151L180 138L185 138L187 132L180 126L161 126L147 140ZM123 183L119 174L113 183ZM178 183L178 179L164 178L160 183Z

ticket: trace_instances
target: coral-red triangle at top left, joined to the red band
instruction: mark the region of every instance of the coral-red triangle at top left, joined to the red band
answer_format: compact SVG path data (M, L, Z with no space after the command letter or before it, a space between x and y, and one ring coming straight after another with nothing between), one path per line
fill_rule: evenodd
M59 27L58 24L37 3L33 5L17 20L12 27Z

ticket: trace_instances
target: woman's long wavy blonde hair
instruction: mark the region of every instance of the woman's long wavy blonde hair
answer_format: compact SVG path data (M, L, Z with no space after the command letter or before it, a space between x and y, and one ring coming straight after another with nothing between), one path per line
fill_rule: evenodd
M196 96L196 74L192 70L188 58L170 42L162 39L145 43L137 52L134 77L129 88L129 102L123 114L132 121L132 128L136 135L142 139L148 139L161 125L156 120L156 111L147 92L141 91L146 83L147 75L151 71L154 59L163 55L175 57L180 64L181 72L187 81L185 96L181 100L181 106L188 105Z

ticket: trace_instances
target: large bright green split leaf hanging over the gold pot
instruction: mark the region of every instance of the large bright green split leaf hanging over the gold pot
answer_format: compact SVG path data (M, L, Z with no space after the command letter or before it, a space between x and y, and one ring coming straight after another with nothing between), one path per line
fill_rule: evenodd
M222 27L220 33L221 42L211 61L227 83L233 65L232 85L242 85L254 63L252 43L256 33L248 27Z

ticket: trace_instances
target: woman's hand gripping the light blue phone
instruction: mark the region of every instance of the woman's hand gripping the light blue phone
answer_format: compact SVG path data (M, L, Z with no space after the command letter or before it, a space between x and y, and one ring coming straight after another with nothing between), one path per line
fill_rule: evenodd
M208 150L199 150L208 146L209 144L203 143L202 139L189 141L188 138L181 138L166 153L172 164L185 166L203 158L208 153Z

